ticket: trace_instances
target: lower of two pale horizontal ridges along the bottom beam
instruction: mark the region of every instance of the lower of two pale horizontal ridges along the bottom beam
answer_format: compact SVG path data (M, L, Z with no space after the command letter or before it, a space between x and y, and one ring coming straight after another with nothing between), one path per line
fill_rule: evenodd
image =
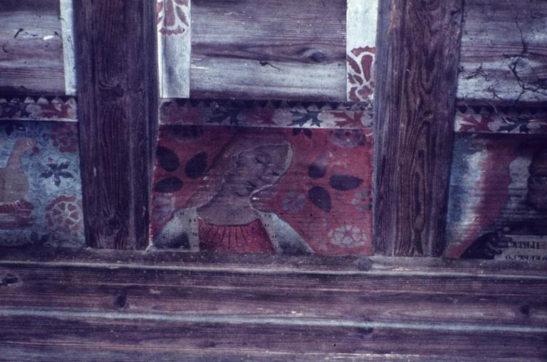
M547 333L544 326L522 326L506 324L471 324L439 322L390 322L390 321L353 321L347 319L311 319L301 317L249 317L249 316L210 316L179 313L130 313L130 312L79 312L47 309L11 309L0 310L0 317L35 316L58 319L110 319L129 321L165 321L170 323L197 324L268 324L273 326L302 327L346 327L363 329L412 329L422 331L476 331L476 332L515 332Z

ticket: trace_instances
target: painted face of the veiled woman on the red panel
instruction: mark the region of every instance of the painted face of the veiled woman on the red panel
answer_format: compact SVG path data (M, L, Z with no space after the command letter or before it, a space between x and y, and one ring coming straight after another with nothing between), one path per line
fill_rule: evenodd
M247 197L272 186L287 171L288 145L264 145L246 149L224 174L224 183L236 196Z

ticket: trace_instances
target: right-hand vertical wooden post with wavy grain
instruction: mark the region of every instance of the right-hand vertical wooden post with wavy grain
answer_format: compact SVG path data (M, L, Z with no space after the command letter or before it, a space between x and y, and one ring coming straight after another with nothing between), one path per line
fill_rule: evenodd
M377 254L442 254L462 3L380 1L375 90Z

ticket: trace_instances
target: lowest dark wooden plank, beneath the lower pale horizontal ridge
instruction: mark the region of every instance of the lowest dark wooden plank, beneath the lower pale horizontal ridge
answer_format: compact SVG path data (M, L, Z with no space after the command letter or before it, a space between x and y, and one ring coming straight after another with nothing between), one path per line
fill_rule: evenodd
M245 360L246 353L351 353L358 356L402 354L422 357L453 358L546 358L547 334L542 331L474 331L442 329L405 329L385 326L336 326L278 324L276 321L254 323L231 319L190 320L176 319L160 314L120 316L119 314L76 314L0 312L0 346L83 346L84 348L115 347L118 351L151 348L153 351L189 350L218 356L219 351L239 354L236 360ZM313 355L312 355L313 356ZM108 356L107 356L108 357ZM380 357L381 358L381 357ZM255 359L254 361L260 361ZM313 361L313 360L312 360ZM388 359L389 361L389 359Z

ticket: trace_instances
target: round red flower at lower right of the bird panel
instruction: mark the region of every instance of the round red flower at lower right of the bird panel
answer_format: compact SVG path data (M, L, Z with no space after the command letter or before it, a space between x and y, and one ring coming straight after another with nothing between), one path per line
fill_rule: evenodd
M54 231L71 233L83 222L82 203L74 196L59 196L46 206L46 219Z

